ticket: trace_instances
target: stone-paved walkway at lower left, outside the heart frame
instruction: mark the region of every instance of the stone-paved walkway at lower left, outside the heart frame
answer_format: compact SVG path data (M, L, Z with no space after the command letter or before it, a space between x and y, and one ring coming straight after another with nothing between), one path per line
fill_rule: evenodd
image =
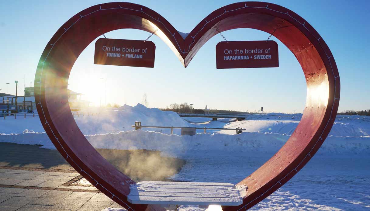
M0 211L121 208L81 179L56 150L0 143Z

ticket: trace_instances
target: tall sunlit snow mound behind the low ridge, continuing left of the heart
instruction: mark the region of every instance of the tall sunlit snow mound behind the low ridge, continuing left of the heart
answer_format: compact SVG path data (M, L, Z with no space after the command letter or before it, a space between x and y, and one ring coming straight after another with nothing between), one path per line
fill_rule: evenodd
M124 105L116 110L101 109L98 114L95 112L97 111L94 111L94 115L81 114L80 117L78 115L74 117L78 127L85 135L134 130L131 125L135 121L141 121L142 125L149 126L191 127L190 123L183 120L175 112L147 108L142 104L137 104L134 107ZM26 118L17 117L17 119L11 116L6 117L6 120L0 120L0 125L0 133L3 134L19 134L25 129L40 133L45 131L37 115ZM171 134L171 129L167 128L143 128L143 130Z

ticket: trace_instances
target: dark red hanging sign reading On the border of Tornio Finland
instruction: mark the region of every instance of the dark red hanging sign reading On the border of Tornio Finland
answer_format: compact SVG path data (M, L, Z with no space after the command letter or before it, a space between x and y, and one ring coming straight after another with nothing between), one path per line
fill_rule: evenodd
M154 67L152 41L100 38L95 43L94 64Z

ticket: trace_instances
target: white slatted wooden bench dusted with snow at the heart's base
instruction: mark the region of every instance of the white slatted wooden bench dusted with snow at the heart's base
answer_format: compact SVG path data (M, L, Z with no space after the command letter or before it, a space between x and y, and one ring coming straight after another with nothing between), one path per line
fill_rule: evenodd
M231 183L142 181L131 186L127 198L132 204L237 206L245 189Z

